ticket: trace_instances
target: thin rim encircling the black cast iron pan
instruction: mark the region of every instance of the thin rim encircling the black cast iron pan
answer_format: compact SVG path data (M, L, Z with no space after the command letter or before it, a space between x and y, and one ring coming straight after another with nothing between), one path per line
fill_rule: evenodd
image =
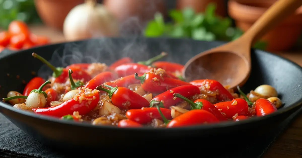
M105 39L133 39L133 37L107 37ZM139 38L139 37L134 37L134 38ZM146 39L145 37L143 37L144 39ZM34 47L34 48L30 48L27 50L21 50L21 51L10 51L8 53L3 54L3 52L0 54L0 61L3 60L6 57L9 57L11 55L16 55L16 54L22 54L24 51L29 51L29 50L35 50L37 48L41 48L41 49L45 49L45 47L50 47L50 46L60 46L60 45L65 45L65 44L69 44L69 43L74 43L74 42L87 42L89 40L96 40L96 39L104 39L104 38L93 38L93 39L86 39L86 40L79 40L79 41L72 41L72 42L61 42L61 43L55 43L55 44L51 44L51 45L43 45L43 46L39 46L39 47ZM194 41L194 42L215 42L215 43L220 43L220 44L224 44L226 42L223 41L198 41L198 40L193 40L193 39L175 39L175 38L166 38L166 37L159 37L159 38L147 38L147 39L166 39L166 40L189 40L189 41ZM257 50L260 53L264 53L264 54L271 54L275 57L278 57L281 60L285 60L289 63L291 63L294 67L297 67L301 72L302 72L302 67L300 65L298 65L297 63L284 58L278 54L274 54L268 51L263 51L263 50L259 50L259 49L253 49L252 50ZM215 123L215 124L206 124L206 125L194 125L194 126L187 126L187 127L175 127L175 128L152 128L152 127L143 127L143 128L119 128L119 127L115 127L115 126L106 126L106 125L91 125L90 123L79 123L79 122L73 122L73 121L66 121L66 120L60 120L56 117L52 117L52 116L45 116L45 115L38 115L35 113L31 113L31 112L27 112L27 111L23 111L20 109L16 109L14 107L12 107L10 104L5 103L3 101L0 102L0 107L5 108L7 110L10 110L14 113L21 113L25 116L34 118L34 119L41 119L43 121L50 121L53 123L60 123L62 125L72 125L72 126L78 126L78 127L83 127L83 128L91 128L91 129L108 129L108 130L121 130L121 131L131 131L131 130L136 130L137 132L139 131L148 131L148 130L153 130L155 132L159 132L159 131L178 131L178 130L185 130L185 131L190 131L190 130L207 130L207 129L219 129L219 128L224 128L224 127L234 127L234 126L238 126L238 125L242 125L242 124L248 124L248 123L255 123L255 122L259 122L262 121L264 119L268 119L268 118L272 118L272 117L277 117L278 115L281 115L282 113L286 113L298 106L302 105L302 97L294 102L293 104L291 104L289 107L283 108L278 110L275 113L272 113L270 115L266 115L266 116L262 116L262 117L253 117L252 119L245 119L242 121L226 121L226 122L219 122L219 123ZM4 114L4 113L3 113ZM5 115L5 114L4 114Z

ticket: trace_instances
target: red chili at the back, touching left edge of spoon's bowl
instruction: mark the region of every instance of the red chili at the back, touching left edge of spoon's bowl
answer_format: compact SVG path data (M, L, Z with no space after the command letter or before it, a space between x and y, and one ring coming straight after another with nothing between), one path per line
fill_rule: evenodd
M182 72L182 69L184 68L182 64L172 63L169 61L156 61L152 64L152 66L156 68L162 68L171 73Z

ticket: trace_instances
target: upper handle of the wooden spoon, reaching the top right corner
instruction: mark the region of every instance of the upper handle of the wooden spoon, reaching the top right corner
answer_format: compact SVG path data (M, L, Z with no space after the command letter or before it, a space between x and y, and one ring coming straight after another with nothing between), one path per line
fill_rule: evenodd
M245 38L255 44L267 31L277 23L293 14L302 5L302 0L279 0L244 33Z

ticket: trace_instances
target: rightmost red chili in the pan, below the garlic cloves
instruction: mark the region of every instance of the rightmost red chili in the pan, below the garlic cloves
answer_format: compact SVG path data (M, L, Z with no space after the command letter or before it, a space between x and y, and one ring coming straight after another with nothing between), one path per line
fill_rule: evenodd
M256 100L255 105L256 116L265 116L277 111L275 105L265 98Z

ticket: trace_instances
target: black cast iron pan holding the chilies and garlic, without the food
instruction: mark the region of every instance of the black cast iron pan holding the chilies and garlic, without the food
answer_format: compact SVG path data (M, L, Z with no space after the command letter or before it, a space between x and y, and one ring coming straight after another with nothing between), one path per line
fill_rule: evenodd
M22 92L25 86L22 81L28 82L34 77L32 71L45 78L51 74L50 69L31 56L33 52L50 60L55 66L95 61L110 64L124 56L139 61L153 57L162 51L169 53L169 57L163 60L185 64L195 54L221 44L223 42L191 39L104 38L47 45L12 53L2 52L0 54L0 97L6 97L8 91L11 90ZM64 58L62 58L63 55ZM253 141L253 138L264 135L299 109L302 103L301 78L302 68L297 64L275 54L252 50L252 73L242 90L248 92L262 84L272 85L280 94L279 97L284 103L283 107L278 112L264 117L187 128L121 129L93 126L36 115L14 109L3 102L0 102L0 112L28 135L57 149L75 151L77 148L81 150L131 148L134 150L148 147L149 149L158 148L158 151L161 151L167 147L218 149L234 148L234 145L240 148L241 142Z

